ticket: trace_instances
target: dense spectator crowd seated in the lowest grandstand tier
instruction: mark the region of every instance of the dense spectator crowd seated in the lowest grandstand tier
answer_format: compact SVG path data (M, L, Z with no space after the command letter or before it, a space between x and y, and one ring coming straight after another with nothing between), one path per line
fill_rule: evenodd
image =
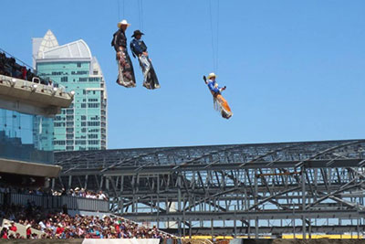
M117 216L84 216L74 217L62 212L46 213L42 207L2 206L0 217L11 222L3 225L1 239L22 239L16 232L15 222L26 226L26 239L170 239L170 234L158 228L139 226ZM35 228L43 231L37 235ZM15 229L15 230L14 230ZM13 230L14 232L10 231ZM11 232L11 233L10 233ZM14 234L15 233L15 234Z

